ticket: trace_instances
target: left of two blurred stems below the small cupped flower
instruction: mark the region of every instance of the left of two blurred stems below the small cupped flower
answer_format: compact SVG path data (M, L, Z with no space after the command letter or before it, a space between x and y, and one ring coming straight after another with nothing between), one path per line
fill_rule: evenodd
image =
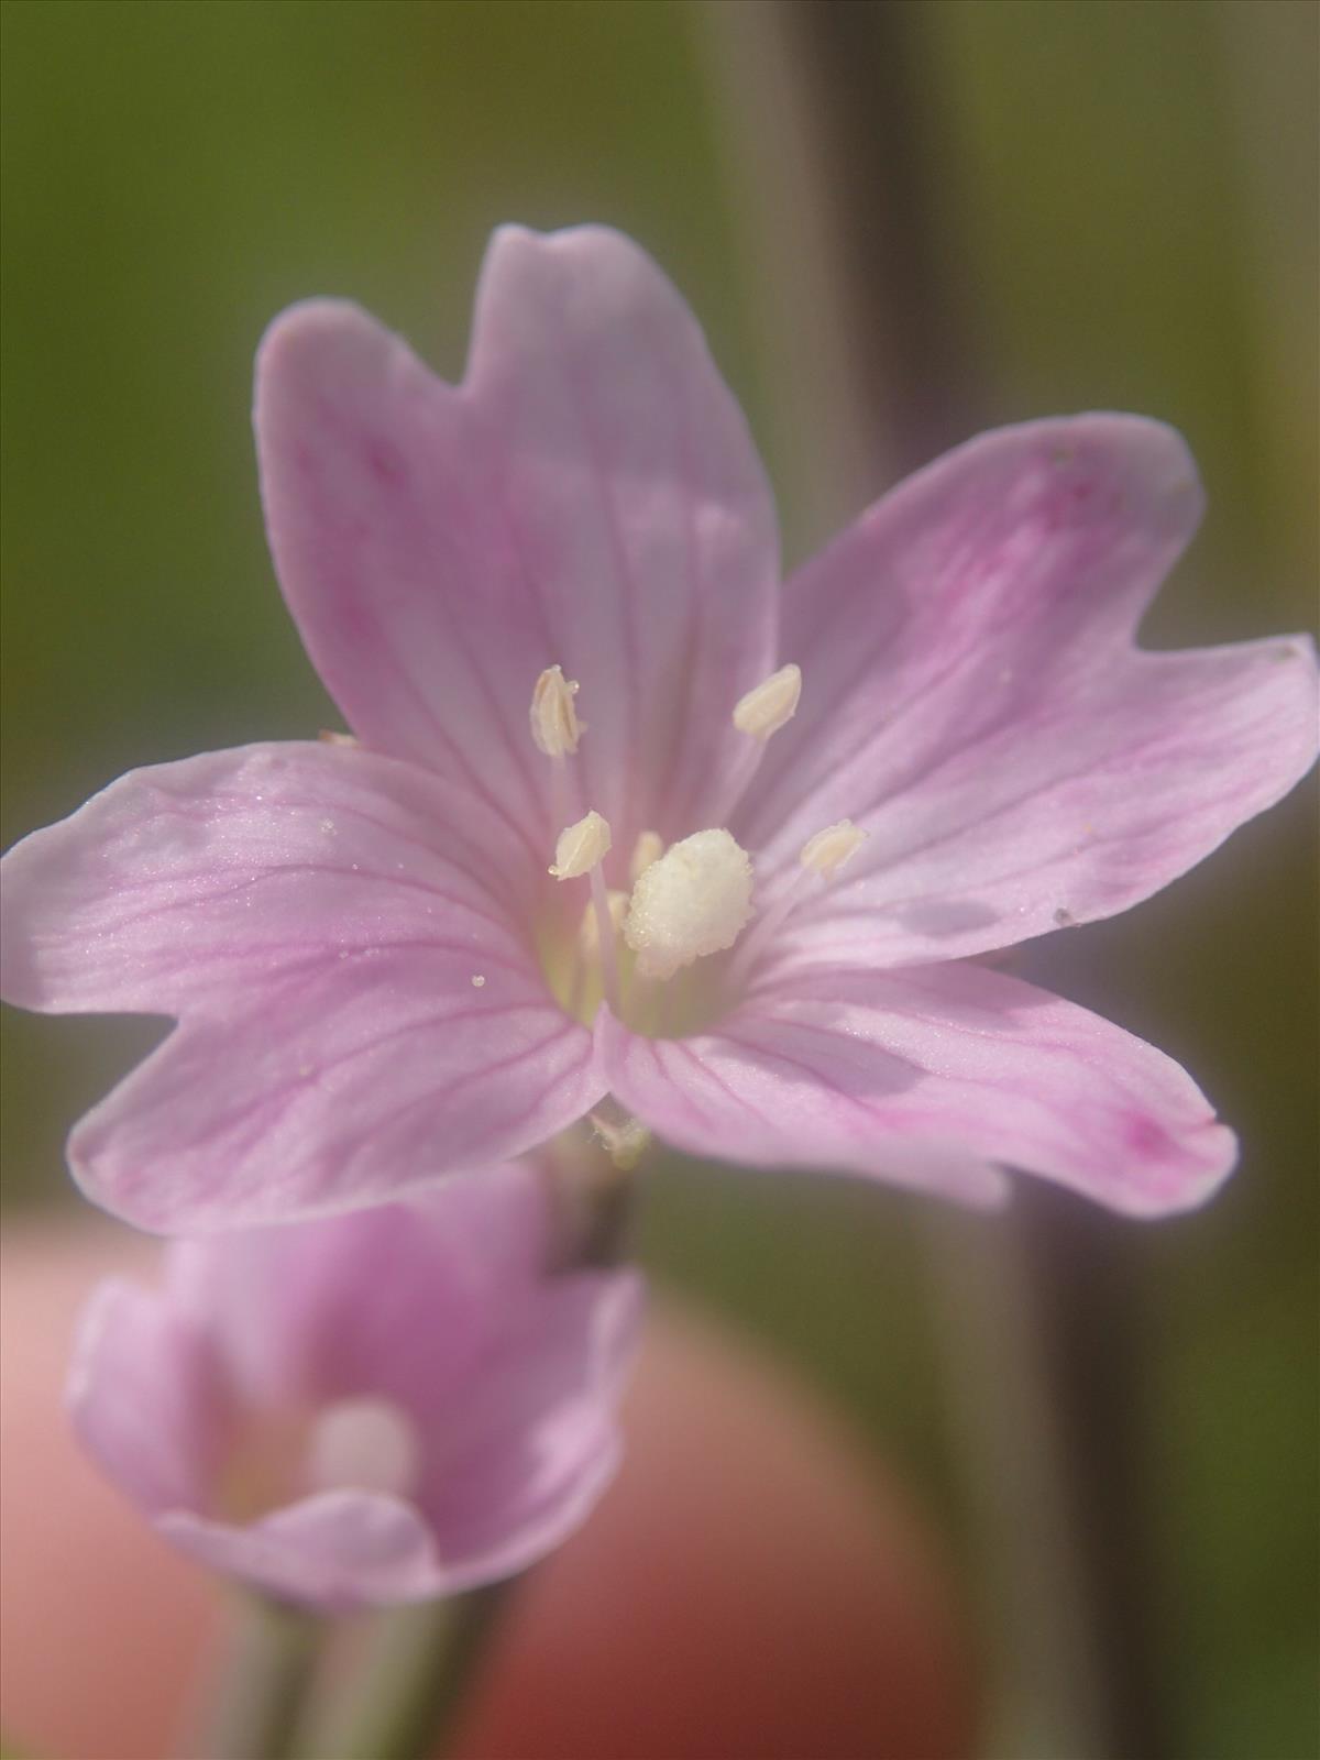
M324 1632L315 1614L268 1596L246 1596L201 1753L224 1760L289 1760L297 1751Z

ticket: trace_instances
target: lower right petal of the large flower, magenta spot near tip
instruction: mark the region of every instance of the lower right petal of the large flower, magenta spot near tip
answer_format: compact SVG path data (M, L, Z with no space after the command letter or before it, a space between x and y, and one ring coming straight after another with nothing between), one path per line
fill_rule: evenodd
M695 1155L973 1200L1017 1167L1133 1216L1199 1204L1236 1160L1170 1058L977 964L799 975L686 1040L597 1031L620 1102Z

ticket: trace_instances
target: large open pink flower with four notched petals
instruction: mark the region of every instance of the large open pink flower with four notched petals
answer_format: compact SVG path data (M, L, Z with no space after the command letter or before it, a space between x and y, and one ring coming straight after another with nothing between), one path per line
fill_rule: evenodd
M1313 760L1306 639L1133 644L1200 514L1177 435L986 435L781 591L672 287L509 229L459 389L312 303L257 438L359 743L139 771L9 855L14 1001L180 1021L74 1132L93 1197L176 1230L370 1204L605 1093L697 1155L972 1200L1012 1165L1155 1214L1227 1174L1177 1065L975 963L1139 903Z

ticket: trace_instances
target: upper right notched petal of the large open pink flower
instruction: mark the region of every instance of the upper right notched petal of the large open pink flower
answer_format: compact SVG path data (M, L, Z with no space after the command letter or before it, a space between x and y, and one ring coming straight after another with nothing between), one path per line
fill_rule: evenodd
M1109 917L1304 774L1306 639L1133 648L1200 505L1170 429L1035 422L912 477L788 584L803 702L736 831L766 896L822 825L869 840L783 947L898 966Z

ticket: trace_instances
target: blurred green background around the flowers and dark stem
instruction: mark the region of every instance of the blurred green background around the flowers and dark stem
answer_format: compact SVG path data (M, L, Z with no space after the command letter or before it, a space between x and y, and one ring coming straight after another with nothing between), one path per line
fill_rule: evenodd
M1153 642L1313 623L1316 11L896 11L982 414L1118 407L1186 433L1211 514ZM5 843L134 764L334 725L262 544L252 352L289 301L345 294L456 377L500 220L637 236L752 410L788 554L824 537L744 250L748 215L776 216L730 151L757 74L711 26L664 0L7 0ZM1153 1630L1186 1760L1320 1746L1315 885L1299 796L1037 966L1183 1058L1244 1140L1204 1214L1070 1221L1118 1255L1139 1341ZM7 1197L63 1202L69 1123L151 1035L4 1031ZM854 1183L665 1167L646 1257L801 1364L966 1542L922 1227Z

